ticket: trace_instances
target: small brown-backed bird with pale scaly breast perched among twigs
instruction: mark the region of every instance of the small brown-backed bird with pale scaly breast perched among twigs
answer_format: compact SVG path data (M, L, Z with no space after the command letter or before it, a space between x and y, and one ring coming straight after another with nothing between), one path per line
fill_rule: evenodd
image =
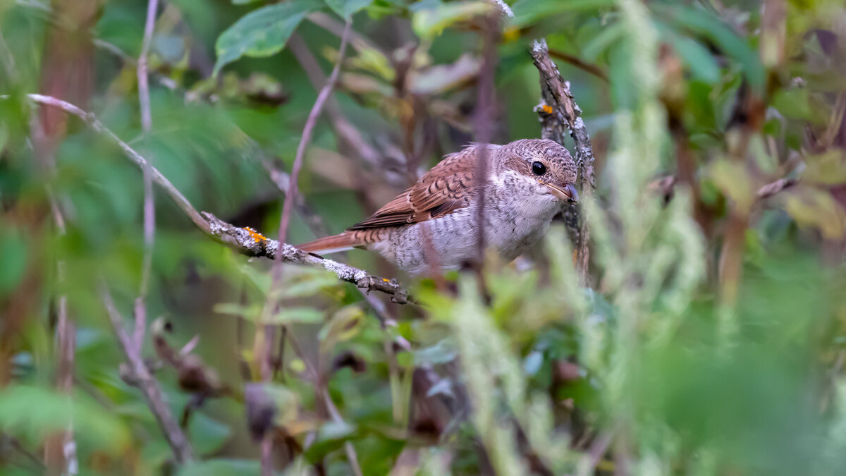
M480 193L483 153L487 180ZM365 248L412 275L447 271L477 256L483 206L484 246L508 263L541 240L565 204L579 202L576 176L572 156L555 141L470 144L364 221L297 247L318 255Z

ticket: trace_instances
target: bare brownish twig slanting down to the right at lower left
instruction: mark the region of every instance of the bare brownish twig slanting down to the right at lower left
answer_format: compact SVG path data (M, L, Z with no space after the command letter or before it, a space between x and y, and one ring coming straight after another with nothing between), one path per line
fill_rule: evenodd
M120 347L124 351L127 363L129 363L129 372L131 379L138 386L141 393L147 401L147 406L156 421L162 428L165 439L168 440L173 451L173 456L179 464L194 461L194 450L191 448L190 442L185 438L182 429L179 428L179 423L173 418L168 404L164 401L164 394L162 388L159 386L156 379L153 379L150 371L147 370L144 359L140 355L140 351L135 348L135 345L129 335L124 329L123 319L118 313L118 309L114 306L112 296L109 294L105 284L102 284L101 297L103 305L109 319L112 322L115 335L118 336Z

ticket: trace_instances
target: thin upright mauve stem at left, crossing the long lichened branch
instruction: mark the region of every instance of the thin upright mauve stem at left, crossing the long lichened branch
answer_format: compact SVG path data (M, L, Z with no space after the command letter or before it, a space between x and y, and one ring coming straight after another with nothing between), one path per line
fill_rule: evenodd
M147 57L150 53L153 30L156 27L156 12L158 0L150 0L147 3L147 18L144 25L144 40L141 44L141 54L138 57L135 74L138 76L138 102L141 109L141 130L145 136L149 136L153 127L153 119L150 112L150 82L147 75ZM146 296L150 287L150 275L153 264L153 244L156 239L156 206L153 202L153 181L151 177L150 158L144 166L144 258L141 267L141 285L139 296L135 299L135 331L132 340L135 348L140 352L144 343L144 330L146 328Z

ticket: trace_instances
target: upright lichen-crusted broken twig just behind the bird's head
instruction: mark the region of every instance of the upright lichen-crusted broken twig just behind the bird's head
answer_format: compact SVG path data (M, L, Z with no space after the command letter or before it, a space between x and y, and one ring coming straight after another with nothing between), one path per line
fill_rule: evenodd
M588 135L585 121L581 118L581 109L576 104L573 93L570 92L569 82L563 80L558 72L558 66L549 58L547 41L541 39L534 42L530 53L541 75L541 103L535 108L541 118L541 136L563 145L565 130L569 131L569 136L575 142L581 194L585 201L591 200L596 190L593 173L594 155L591 136ZM565 208L564 213L568 224L578 223L578 220L567 217L568 213L578 213L576 208ZM575 233L571 233L571 237L575 238L576 264L580 271L580 278L583 283L587 283L588 263L591 257L588 242L591 240L591 233L587 220L583 217L580 221L578 230L573 230Z

